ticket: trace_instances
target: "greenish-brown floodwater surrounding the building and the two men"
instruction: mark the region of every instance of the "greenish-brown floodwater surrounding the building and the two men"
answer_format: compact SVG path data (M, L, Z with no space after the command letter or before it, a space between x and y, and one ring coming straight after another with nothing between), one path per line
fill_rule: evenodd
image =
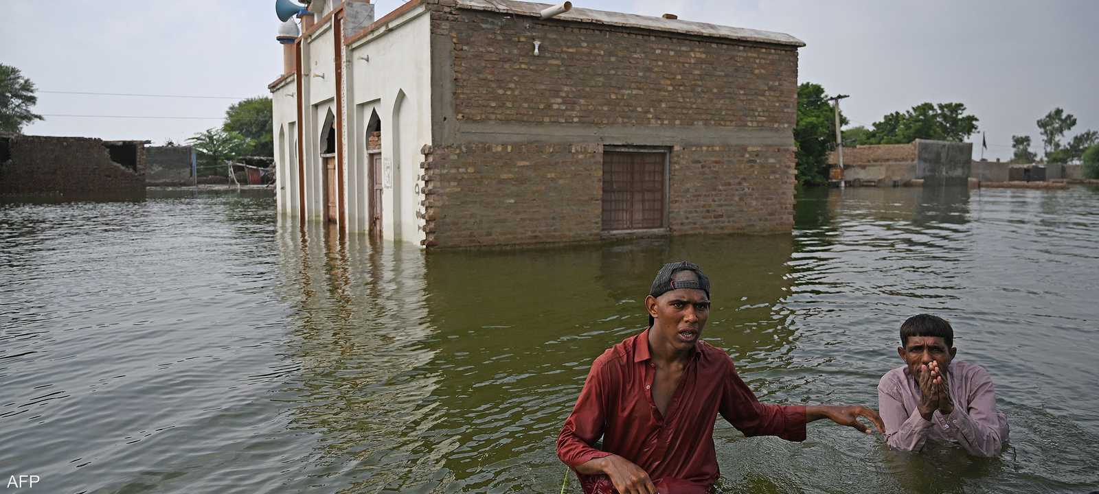
M0 205L0 478L31 492L557 493L591 360L665 261L713 280L703 337L773 403L876 406L932 312L997 385L996 459L719 419L729 493L1099 489L1099 189L812 190L792 235L533 250L330 242L274 200Z

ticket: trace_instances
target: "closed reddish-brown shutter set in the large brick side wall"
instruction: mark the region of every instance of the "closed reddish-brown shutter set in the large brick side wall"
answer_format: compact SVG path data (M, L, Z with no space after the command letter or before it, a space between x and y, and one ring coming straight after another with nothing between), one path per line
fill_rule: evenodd
M603 153L603 231L664 227L664 153Z

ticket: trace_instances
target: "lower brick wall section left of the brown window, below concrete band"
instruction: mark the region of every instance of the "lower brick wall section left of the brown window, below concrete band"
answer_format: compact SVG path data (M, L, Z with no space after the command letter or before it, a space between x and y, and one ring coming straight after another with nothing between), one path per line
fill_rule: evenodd
M428 246L599 239L602 146L426 146Z

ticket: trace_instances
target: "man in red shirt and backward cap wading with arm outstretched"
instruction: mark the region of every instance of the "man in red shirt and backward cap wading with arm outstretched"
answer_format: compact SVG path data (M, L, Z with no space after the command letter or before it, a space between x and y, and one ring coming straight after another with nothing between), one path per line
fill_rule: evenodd
M859 416L884 434L878 414L862 406L759 403L729 355L700 340L710 280L698 266L660 268L645 307L650 327L591 363L557 437L557 456L577 472L585 493L708 492L718 480L719 413L746 436L801 441L806 424L820 418L870 434Z

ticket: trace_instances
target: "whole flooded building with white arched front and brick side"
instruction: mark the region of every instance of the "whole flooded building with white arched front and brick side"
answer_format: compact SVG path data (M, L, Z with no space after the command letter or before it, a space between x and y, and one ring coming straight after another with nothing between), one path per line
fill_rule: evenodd
M789 231L803 43L550 7L314 0L269 86L280 212L428 247Z

